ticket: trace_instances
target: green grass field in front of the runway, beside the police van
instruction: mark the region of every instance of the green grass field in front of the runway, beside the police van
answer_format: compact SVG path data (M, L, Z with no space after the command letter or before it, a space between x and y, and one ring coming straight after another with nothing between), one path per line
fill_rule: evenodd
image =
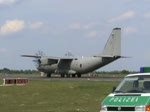
M98 112L119 82L29 81L0 87L1 112Z

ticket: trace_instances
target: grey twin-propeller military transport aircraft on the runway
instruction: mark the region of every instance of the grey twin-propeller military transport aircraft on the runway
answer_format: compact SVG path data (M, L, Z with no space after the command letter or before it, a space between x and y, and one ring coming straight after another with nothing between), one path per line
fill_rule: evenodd
M90 57L52 57L39 55L21 55L22 57L36 58L37 69L47 74L61 74L61 77L81 77L81 74L92 72L118 58L121 58L121 28L114 28L102 54Z

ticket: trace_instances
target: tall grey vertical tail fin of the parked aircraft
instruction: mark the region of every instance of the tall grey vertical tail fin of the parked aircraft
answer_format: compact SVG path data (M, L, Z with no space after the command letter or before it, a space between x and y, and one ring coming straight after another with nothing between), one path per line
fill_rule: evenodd
M105 47L103 55L121 55L121 28L114 28Z

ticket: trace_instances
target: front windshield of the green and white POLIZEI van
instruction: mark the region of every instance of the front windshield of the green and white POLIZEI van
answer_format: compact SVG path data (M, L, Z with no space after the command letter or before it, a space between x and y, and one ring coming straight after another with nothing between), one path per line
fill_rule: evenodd
M150 75L125 77L115 93L150 93Z

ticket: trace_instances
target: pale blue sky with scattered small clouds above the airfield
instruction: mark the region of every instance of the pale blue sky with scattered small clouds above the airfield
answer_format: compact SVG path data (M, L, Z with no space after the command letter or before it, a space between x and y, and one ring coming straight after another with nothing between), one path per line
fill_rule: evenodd
M0 69L36 69L38 50L50 56L101 53L113 28L122 29L122 55L99 70L150 66L150 0L0 0Z

